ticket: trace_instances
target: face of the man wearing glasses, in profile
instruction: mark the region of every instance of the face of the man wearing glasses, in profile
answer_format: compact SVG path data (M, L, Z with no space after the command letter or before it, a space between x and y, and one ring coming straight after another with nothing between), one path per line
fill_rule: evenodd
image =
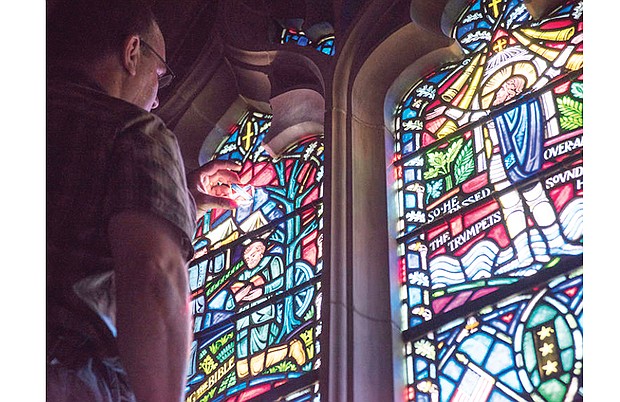
M166 46L159 27L155 26L153 33L144 40L165 60ZM137 71L138 90L134 102L137 106L149 112L159 106L159 99L157 98L159 77L164 75L166 71L166 66L153 54L153 51L147 46L141 46L141 57Z

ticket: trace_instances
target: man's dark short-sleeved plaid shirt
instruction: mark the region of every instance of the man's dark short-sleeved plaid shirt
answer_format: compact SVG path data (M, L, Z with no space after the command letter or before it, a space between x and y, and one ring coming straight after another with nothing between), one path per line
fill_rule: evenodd
M98 295L89 304L100 314L110 308L107 224L123 210L167 220L179 229L187 260L193 256L195 204L177 139L154 114L88 81L50 79L46 168L50 297L90 277L99 289L90 290Z

